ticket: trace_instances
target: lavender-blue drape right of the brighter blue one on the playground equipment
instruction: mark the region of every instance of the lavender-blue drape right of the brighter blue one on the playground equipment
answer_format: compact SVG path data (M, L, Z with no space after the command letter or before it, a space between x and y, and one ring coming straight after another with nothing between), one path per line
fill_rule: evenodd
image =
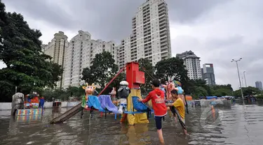
M101 95L99 96L99 101L102 109L107 109L110 112L119 114L118 108L112 103L111 96Z

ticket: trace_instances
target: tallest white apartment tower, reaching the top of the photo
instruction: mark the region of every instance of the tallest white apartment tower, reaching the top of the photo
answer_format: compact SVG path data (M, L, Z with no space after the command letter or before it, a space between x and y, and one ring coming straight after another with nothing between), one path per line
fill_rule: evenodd
M147 0L132 18L132 34L121 40L118 63L145 58L153 65L171 56L168 6L164 0Z

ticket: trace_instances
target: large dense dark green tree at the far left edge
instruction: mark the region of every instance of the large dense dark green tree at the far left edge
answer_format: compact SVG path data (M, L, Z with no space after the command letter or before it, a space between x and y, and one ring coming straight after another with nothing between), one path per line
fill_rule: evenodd
M15 86L21 93L55 86L62 68L41 52L41 32L30 29L22 15L6 13L1 1L0 15L0 60L7 66L0 70L0 96L4 98L1 100L12 96Z

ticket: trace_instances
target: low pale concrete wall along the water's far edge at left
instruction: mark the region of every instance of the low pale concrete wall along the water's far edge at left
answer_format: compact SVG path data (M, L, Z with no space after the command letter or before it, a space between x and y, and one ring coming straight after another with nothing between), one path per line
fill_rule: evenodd
M74 107L81 102L61 102L61 107ZM53 102L45 102L45 108L52 108ZM0 102L0 110L12 109L12 102Z

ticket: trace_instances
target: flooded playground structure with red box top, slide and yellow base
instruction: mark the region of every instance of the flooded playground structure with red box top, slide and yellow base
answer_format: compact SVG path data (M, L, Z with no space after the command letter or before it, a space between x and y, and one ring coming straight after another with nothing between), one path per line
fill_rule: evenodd
M125 68L126 68L126 81L128 82L130 94L127 98L127 112L124 112L124 114L126 114L125 116L127 116L128 123L130 125L133 125L134 123L149 123L149 121L147 119L147 115L146 115L148 108L144 110L145 107L142 108L142 107L137 107L137 106L134 107L133 106L133 104L140 105L140 103L137 103L137 100L133 100L133 96L137 97L137 98L142 98L141 93L140 93L140 84L144 84L144 81L145 81L144 72L139 71L139 63L136 63L136 62L127 63L126 67L123 67L121 70L119 70L119 73L117 73L116 76L114 78L112 78L112 80L109 82L109 84L111 84L114 81L114 79L116 77L118 77L118 75L121 72L123 72L123 70ZM78 112L83 111L83 107L86 109L90 109L90 110L98 110L100 112L105 112L105 114L106 114L107 110L109 110L109 109L112 109L112 112L115 112L115 107L113 107L111 103L105 103L104 107L107 107L107 110L106 110L106 108L102 108L103 102L106 102L106 100L108 100L107 99L108 97L104 98L105 96L103 97L100 95L105 89L107 89L109 84L107 84L105 86L105 88L100 92L100 94L98 94L97 97L99 97L99 98L95 98L95 96L90 97L86 93L85 101L83 98L82 103L80 103L79 105L76 105L72 109L69 109L67 112L65 112L61 116L58 116L57 118L50 121L50 123L62 123L64 121L66 121L67 119L69 119L70 117L77 114ZM86 90L86 87L85 87L85 90ZM87 99L88 99L88 101L87 101ZM90 105L92 105L92 106L90 106ZM97 109L96 109L96 107L97 107ZM138 108L140 108L140 111L136 110Z

